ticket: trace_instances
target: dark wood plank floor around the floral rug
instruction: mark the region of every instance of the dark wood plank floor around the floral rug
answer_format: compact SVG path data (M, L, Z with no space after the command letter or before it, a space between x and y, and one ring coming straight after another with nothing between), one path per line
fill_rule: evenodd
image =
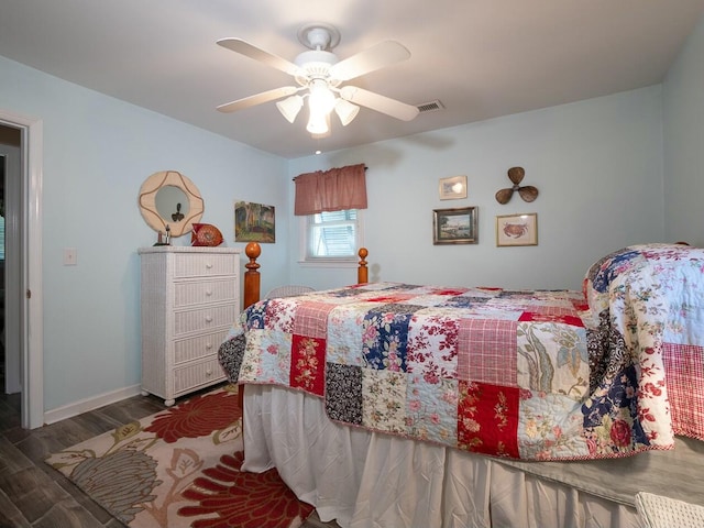
M4 380L0 382L0 387L4 387ZM163 400L135 396L30 431L20 427L20 395L2 393L0 391L0 528L122 528L122 522L44 463L44 459L163 410ZM336 522L321 522L314 513L301 528L336 527Z

